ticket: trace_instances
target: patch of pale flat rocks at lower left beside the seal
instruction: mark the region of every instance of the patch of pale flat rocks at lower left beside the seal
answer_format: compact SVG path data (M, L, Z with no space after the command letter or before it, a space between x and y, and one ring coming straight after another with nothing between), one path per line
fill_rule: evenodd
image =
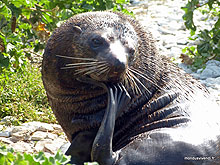
M9 119L11 118L4 118L5 123ZM58 124L28 122L21 126L1 126L0 142L22 153L44 151L46 156L51 156L56 154L62 145L68 143L61 126Z

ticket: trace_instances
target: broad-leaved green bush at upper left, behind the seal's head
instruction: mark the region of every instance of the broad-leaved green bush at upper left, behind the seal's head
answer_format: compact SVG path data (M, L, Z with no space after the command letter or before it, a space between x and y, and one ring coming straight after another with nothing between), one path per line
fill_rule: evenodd
M0 1L0 73L22 69L39 53L60 22L77 13L121 10L128 0L2 0Z

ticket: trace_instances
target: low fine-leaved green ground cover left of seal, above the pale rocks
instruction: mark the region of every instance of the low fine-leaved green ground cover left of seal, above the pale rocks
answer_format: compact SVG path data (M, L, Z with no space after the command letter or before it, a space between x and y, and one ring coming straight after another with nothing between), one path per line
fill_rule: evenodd
M26 121L55 123L37 66L27 63L22 72L0 75L0 118L15 116L12 124Z

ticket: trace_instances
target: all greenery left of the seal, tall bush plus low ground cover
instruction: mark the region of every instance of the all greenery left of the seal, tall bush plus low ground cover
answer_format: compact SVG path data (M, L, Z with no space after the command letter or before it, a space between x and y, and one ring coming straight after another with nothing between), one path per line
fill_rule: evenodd
M46 41L62 21L94 10L122 10L128 0L2 0L0 1L0 118L56 122L41 82ZM36 60L37 59L37 60Z

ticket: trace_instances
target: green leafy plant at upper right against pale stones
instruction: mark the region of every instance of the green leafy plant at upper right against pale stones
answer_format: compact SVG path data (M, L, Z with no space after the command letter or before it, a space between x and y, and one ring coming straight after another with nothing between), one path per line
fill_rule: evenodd
M187 29L191 30L190 40L199 40L196 46L186 47L183 53L193 59L193 66L201 68L210 59L220 60L220 2L218 0L189 0L185 7L183 19ZM194 24L194 12L199 10L206 16L204 21L214 20L210 29L200 29Z

